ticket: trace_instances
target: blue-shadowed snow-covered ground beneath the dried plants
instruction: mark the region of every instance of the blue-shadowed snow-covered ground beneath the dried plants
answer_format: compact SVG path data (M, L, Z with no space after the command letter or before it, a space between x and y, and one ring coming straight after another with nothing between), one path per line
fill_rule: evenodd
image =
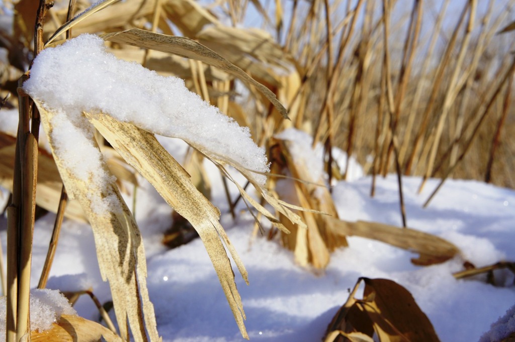
M178 160L184 145L162 140ZM414 266L408 251L364 238L349 238L349 247L333 253L324 272L294 263L293 253L265 237L251 238L253 219L243 211L236 220L228 213L220 174L207 165L213 183L213 203L222 212L221 223L243 259L250 285L236 277L246 327L256 341L318 341L332 316L348 297L359 277L389 278L413 294L432 321L442 341L476 341L491 323L515 303L513 275L495 273L498 286L484 277L455 280L453 272L468 260L485 266L515 260L515 191L473 181L448 181L426 209L422 203L436 186L430 180L417 194L420 179L404 178L408 226L433 233L456 244L461 255L440 265ZM369 196L370 177L334 185L333 197L340 218L400 225L396 177L377 178L376 195ZM237 190L232 189L233 198ZM4 193L5 196L5 193ZM128 201L128 203L131 203ZM171 224L171 209L148 183L142 181L136 202L136 220L148 255L148 288L156 309L158 330L164 341L243 341L221 290L218 278L200 240L167 250L162 232ZM239 210L238 210L239 212ZM36 223L33 285L39 279L55 215ZM4 253L6 219L0 218ZM235 272L237 274L237 272ZM91 229L65 220L48 287L62 291L92 287L101 302L110 299L100 280ZM98 319L90 298L75 309Z

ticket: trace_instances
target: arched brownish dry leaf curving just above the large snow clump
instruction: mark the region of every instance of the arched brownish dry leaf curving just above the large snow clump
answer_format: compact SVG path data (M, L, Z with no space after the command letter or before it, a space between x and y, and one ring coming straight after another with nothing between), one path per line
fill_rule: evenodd
M216 66L227 73L234 75L242 81L259 89L266 98L276 107L284 118L288 118L287 111L270 89L255 81L245 71L215 51L191 39L155 33L141 29L130 29L122 32L102 34L104 40L120 44L128 44L146 49L173 53L174 55L195 59L209 65Z

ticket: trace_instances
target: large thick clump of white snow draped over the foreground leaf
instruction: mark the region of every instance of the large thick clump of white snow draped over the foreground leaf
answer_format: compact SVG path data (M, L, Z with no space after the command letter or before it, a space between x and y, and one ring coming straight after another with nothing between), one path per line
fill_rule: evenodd
M60 135L56 140L63 153L70 143L82 146L80 153L69 153L80 154L81 160L68 158L78 168L83 168L83 156L93 153L89 152L92 143L86 141L92 136L92 128L81 113L101 111L149 132L181 138L215 159L233 160L258 173L269 171L265 151L252 141L248 128L239 127L188 91L182 79L163 77L140 64L116 59L95 35L82 34L43 50L23 87L48 110L66 113L75 128L56 132ZM88 172L77 176L91 179ZM266 181L262 174L255 174L255 178L261 184Z

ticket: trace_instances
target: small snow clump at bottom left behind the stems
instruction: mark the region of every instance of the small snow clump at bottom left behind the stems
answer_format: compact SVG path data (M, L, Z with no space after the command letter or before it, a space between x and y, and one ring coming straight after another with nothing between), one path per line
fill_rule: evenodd
M0 298L0 336L5 336L6 297ZM76 315L68 300L56 290L30 290L30 329L45 331L61 315Z

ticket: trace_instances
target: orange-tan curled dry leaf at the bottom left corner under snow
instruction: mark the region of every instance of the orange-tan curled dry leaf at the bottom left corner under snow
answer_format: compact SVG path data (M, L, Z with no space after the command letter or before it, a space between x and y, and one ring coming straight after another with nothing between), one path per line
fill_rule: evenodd
M103 339L102 339L103 338ZM122 338L111 330L88 319L74 315L61 315L61 318L53 323L52 328L45 331L32 331L32 342L122 342Z

